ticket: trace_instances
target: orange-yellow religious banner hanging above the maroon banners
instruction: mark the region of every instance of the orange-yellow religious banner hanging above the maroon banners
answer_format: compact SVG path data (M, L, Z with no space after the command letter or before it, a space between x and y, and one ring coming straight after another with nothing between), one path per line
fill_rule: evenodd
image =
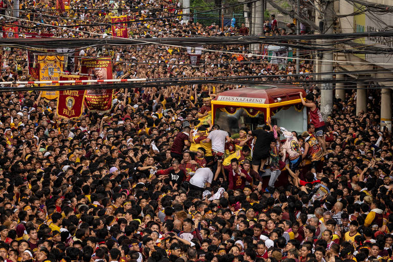
M39 81L59 81L60 72L63 71L63 56L38 55ZM40 86L59 85L59 83L46 83ZM42 91L41 98L46 100L56 99L57 91Z

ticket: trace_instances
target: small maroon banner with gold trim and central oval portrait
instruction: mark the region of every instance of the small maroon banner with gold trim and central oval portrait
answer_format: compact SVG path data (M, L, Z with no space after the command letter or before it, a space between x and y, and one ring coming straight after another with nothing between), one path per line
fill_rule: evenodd
M82 115L84 90L61 90L57 98L57 115L61 118L78 118Z

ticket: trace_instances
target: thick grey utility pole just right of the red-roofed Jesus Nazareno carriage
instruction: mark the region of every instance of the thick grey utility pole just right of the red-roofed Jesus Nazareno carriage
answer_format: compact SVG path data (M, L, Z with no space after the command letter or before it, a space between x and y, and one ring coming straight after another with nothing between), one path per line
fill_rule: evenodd
M323 30L321 31L322 34L333 34L333 25L334 21L336 19L336 13L334 11L334 2L332 0L327 0L324 2L326 5L325 13L324 15L324 21L326 24L324 24L321 28ZM321 21L323 23L323 20ZM333 46L326 46L326 50L333 50ZM321 79L331 79L332 78L332 72L333 72L333 52L326 52L323 54L323 61L322 62L322 73L326 73L325 75L323 74ZM333 111L333 87L332 83L322 83L321 86L321 108L320 112L322 114L322 118L325 120L330 114L332 114Z

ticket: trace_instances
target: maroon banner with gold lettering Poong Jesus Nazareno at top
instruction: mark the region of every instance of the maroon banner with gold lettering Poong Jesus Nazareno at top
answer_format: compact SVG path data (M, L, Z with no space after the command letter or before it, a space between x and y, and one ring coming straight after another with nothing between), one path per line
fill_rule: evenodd
M81 73L89 74L89 79L112 79L112 61L110 57L82 58ZM101 82L102 83L102 82ZM111 110L113 89L86 90L86 106L92 112L106 113Z

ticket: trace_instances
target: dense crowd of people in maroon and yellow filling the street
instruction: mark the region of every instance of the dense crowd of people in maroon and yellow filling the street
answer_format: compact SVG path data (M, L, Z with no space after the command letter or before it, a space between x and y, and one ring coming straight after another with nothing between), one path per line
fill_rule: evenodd
M20 27L20 37L106 37L109 17L122 14L139 21L129 24L129 37L249 33L244 25L223 31L182 23L179 2L71 1L64 11L54 5L21 2L20 17L32 21L26 25L41 24ZM274 20L265 31L285 33ZM75 23L83 32L70 30ZM291 61L278 65L246 46L212 48L216 52L204 51L197 67L183 49L149 45L91 47L73 58L109 55L113 78L267 75L264 80L297 81L280 76L296 73ZM1 81L32 79L27 56L5 49ZM312 64L301 65L299 79L311 80ZM60 119L55 100L26 86L33 91L0 93L0 260L392 257L393 144L387 126L380 126L376 90L367 95L366 112L356 114L356 92L347 92L323 120L312 86L300 94L310 118L302 134L270 119L260 129L244 126L230 134L212 124L211 99L237 85L116 89L111 112L85 108L72 120Z

